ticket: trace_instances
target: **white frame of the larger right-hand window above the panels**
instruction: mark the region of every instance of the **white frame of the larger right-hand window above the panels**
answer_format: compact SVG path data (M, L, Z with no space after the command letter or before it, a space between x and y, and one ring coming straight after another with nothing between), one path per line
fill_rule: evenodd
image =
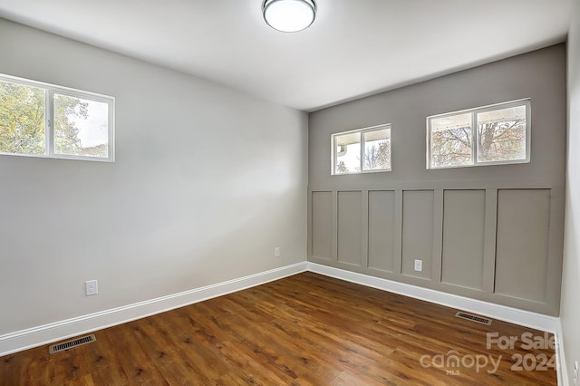
M478 113L496 111L502 109L509 109L511 107L526 107L526 159L509 159L509 160L498 160L498 161L478 161ZM460 114L471 114L471 164L469 165L457 165L457 166L433 166L431 165L431 121L440 118L451 117ZM430 115L426 119L427 124L427 159L426 168L427 169L457 169L457 168L472 168L478 166L494 166L494 165L511 165L511 164L521 164L530 162L530 152L532 143L532 108L531 99L524 98L516 101L505 101L500 103L489 104L487 106L476 107L472 109L445 112L443 114Z

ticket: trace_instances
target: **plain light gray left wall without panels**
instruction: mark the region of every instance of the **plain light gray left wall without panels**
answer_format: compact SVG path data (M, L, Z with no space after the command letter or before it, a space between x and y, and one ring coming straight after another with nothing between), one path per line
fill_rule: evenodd
M304 112L1 19L0 52L117 113L115 163L0 156L0 334L305 260Z

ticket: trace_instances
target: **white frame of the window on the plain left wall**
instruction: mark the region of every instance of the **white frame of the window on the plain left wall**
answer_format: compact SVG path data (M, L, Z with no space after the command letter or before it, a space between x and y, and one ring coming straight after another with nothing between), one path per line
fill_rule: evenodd
M34 87L44 91L44 154L5 153L0 151L0 155L46 159L92 160L97 162L115 161L115 97L97 92L85 92L82 90L59 86L52 83L37 82L30 79L7 75L5 73L0 73L0 82L9 82L22 86ZM90 101L98 101L108 105L108 157L105 158L86 155L59 154L54 151L54 94Z

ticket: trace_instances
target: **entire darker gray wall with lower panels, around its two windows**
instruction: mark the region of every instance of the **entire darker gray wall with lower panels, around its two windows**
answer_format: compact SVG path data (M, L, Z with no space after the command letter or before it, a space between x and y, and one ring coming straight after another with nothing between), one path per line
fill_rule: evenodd
M557 315L565 79L558 44L311 113L309 260ZM425 168L426 117L522 98L530 163ZM331 176L331 134L382 123L392 124L392 171Z

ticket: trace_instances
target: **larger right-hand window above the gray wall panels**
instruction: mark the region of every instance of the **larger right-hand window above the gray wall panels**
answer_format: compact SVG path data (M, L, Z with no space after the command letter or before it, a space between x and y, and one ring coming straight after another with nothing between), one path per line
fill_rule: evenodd
M427 168L529 162L530 101L427 118Z

